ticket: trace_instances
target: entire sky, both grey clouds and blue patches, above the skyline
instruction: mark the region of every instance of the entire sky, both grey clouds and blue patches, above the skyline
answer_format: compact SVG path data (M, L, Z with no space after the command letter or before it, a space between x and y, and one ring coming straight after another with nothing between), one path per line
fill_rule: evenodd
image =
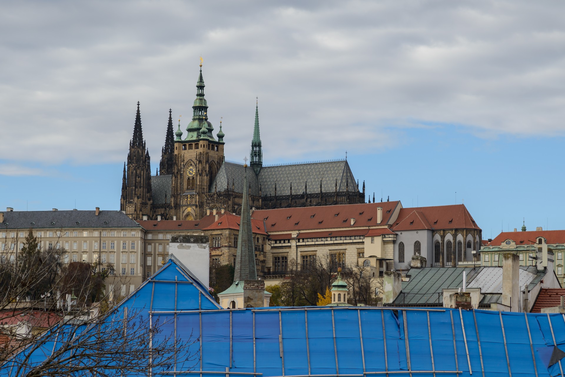
M137 101L158 166L199 56L226 158L341 158L405 207L464 202L484 237L565 229L565 4L0 2L0 198L119 209ZM75 203L76 201L76 203ZM2 206L2 203L0 203Z

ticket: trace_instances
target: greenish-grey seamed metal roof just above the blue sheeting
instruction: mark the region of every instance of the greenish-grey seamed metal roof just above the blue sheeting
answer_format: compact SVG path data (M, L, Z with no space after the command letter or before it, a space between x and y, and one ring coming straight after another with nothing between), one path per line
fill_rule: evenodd
M443 305L442 289L458 288L463 284L463 271L467 276L474 276L481 268L473 267L426 267L411 268L407 275L410 280L402 281L402 293L394 304Z

